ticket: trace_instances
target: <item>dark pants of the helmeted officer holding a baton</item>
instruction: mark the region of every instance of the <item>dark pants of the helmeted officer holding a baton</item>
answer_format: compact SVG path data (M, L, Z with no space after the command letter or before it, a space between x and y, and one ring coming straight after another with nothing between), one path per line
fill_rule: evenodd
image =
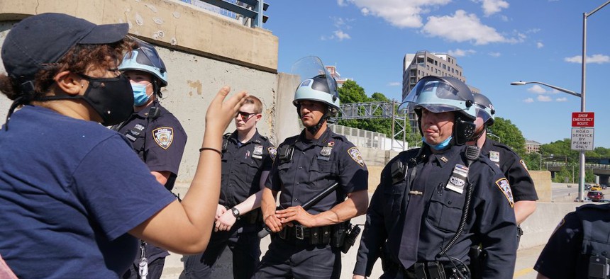
M319 278L341 275L341 252L329 244L309 244L309 240L275 237L262 257L255 279Z

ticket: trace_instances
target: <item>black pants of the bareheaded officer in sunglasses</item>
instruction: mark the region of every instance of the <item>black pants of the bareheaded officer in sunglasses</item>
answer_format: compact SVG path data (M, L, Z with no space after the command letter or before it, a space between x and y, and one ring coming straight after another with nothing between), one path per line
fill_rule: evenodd
M260 239L256 235L260 226L235 225L229 232L212 232L203 254L185 256L180 279L211 278L212 267L226 247L233 253L233 278L252 277L260 258Z

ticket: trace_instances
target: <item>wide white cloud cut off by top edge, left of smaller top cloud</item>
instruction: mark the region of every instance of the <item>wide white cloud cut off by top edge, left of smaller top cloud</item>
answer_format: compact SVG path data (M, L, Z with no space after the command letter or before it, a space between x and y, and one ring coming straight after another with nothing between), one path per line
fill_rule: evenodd
M338 0L342 1L343 0ZM444 6L451 0L348 0L360 8L364 16L377 16L398 28L419 28L423 25L421 14L428 13L429 6Z

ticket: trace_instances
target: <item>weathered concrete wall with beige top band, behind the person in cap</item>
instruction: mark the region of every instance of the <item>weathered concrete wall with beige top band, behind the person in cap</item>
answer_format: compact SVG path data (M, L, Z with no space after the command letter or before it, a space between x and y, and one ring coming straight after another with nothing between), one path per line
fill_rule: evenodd
M188 185L194 176L207 106L224 85L261 99L263 119L257 127L262 135L277 142L273 123L278 117L276 92L280 79L275 74L278 40L270 31L245 27L179 1L68 0L58 5L54 1L4 0L0 1L0 44L16 20L45 12L68 13L99 24L127 22L130 34L157 45L169 80L161 103L176 115L189 136L178 185ZM0 71L4 73L4 67ZM284 82L285 91L293 86L294 92L299 81L290 82ZM289 96L291 102L293 96ZM10 105L11 101L0 94L2 117ZM288 105L281 107L285 106ZM289 106L294 115L294 106L292 103ZM227 132L233 130L235 126L230 125Z

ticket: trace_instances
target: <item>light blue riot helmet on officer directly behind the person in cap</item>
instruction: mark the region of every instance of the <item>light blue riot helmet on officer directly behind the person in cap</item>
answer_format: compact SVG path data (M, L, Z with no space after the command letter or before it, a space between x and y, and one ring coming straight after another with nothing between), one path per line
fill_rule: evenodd
M138 47L129 52L123 57L123 62L118 65L121 72L129 70L147 72L153 75L153 86L155 93L161 96L161 87L167 86L167 69L165 63L159 56L153 45L143 40L134 40L138 43Z

